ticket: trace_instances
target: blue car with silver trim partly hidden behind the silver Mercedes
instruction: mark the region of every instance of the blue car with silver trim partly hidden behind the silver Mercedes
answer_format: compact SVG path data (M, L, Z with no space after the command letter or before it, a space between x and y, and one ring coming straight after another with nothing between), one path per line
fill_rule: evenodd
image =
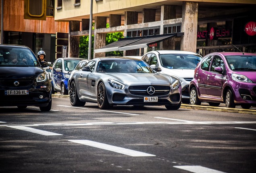
M60 92L61 95L68 95L68 79L70 73L78 62L83 58L58 58L52 66L52 84L54 93Z

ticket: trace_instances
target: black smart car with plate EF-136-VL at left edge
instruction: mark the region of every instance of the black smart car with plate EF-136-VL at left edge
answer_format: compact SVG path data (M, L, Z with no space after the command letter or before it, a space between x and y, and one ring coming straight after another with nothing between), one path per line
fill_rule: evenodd
M41 111L52 108L51 79L26 46L0 44L0 107L37 106Z

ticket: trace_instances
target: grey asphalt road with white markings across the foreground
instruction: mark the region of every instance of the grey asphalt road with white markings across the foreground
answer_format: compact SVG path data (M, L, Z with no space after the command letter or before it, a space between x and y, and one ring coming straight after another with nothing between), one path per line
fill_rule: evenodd
M255 172L256 115L184 107L0 107L0 172Z

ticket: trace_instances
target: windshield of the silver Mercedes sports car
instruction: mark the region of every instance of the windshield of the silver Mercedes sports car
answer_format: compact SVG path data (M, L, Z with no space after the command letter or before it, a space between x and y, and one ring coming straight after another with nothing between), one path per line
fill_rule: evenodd
M141 60L101 60L97 72L106 73L153 73L152 68Z

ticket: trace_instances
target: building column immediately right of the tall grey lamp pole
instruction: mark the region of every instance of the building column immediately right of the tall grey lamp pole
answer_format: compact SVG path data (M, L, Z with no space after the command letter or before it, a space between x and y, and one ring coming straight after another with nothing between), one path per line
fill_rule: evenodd
M97 29L106 28L106 25L107 25L107 17L100 17L100 16L95 17L94 45L93 45L94 50L106 45L106 34L105 33L97 33ZM91 44L91 43L89 43L89 44ZM105 52L101 52L101 53L93 52L93 57L94 58L105 57Z

